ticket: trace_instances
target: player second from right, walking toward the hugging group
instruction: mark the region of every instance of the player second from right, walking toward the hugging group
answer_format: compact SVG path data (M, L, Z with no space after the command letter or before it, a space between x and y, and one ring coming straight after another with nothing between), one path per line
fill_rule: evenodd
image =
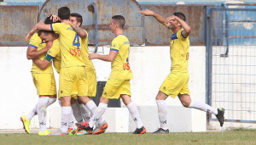
M129 49L130 42L126 36L123 35L125 26L125 18L121 15L115 15L110 22L110 29L115 35L108 55L101 55L98 53L91 53L90 59L101 59L103 61L109 61L112 65L112 72L108 78L102 97L100 99L99 106L93 114L90 122L85 122L79 125L80 128L93 134L97 134L93 131L93 127L96 124L96 120L102 117L102 114L108 107L109 99L122 98L126 107L129 109L132 119L137 124L137 130L134 134L146 133L146 129L143 126L142 120L138 114L137 106L131 102L131 85L132 72L129 64Z

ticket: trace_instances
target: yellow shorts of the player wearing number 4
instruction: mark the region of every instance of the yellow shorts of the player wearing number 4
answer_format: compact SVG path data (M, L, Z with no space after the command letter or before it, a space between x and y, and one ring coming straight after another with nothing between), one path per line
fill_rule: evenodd
M87 82L85 79L85 67L75 66L69 68L61 68L60 72L60 89L59 97L87 95Z

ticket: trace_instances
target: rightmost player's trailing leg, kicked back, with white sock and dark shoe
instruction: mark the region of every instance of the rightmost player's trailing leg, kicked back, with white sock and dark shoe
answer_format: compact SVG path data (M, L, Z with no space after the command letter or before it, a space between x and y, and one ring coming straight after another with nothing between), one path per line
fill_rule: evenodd
M215 109L207 103L202 103L201 101L191 100L188 94L178 94L178 98L186 108L200 109L204 112L209 112L215 114L218 118L220 126L224 124L224 109Z

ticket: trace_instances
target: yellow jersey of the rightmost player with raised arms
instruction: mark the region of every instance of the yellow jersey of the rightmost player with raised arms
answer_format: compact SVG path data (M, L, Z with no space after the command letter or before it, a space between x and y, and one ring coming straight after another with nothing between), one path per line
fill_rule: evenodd
M170 29L172 32L172 30ZM171 71L188 72L189 65L189 36L183 37L182 30L172 34L170 38L170 53L172 60Z

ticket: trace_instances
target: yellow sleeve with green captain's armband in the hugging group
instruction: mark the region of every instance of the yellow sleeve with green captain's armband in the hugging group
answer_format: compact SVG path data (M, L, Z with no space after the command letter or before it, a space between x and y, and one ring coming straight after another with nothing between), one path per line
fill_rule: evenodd
M49 48L49 51L46 53L45 59L49 62L54 59L61 52L61 47L59 41L54 41L52 47Z

